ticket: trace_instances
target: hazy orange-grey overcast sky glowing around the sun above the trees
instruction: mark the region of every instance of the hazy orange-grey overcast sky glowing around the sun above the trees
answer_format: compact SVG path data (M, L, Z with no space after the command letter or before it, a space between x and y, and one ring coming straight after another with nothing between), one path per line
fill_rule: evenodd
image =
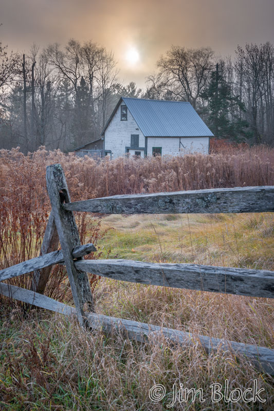
M274 43L273 17L274 0L1 0L0 41L27 53L92 40L114 52L121 81L143 87L171 45L233 56L238 44Z

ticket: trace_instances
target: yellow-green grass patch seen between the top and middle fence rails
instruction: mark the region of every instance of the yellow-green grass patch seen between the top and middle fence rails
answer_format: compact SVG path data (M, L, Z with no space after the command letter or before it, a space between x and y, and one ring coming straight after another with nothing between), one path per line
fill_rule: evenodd
M110 215L102 227L111 258L274 270L273 213Z

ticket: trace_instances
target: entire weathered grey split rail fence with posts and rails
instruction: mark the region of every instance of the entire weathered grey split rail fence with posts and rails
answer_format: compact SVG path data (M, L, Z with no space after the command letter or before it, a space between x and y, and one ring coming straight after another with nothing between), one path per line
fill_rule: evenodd
M254 213L274 211L274 186L210 189L175 193L118 195L70 202L60 164L47 167L47 190L51 213L41 256L0 271L0 281L34 272L32 289L0 283L0 293L31 305L60 312L76 313L82 326L110 331L117 329L127 338L156 343L159 335L183 345L197 342L207 351L232 350L245 356L263 372L274 375L274 349L250 344L195 336L189 332L97 314L87 272L117 280L164 287L274 298L274 272L195 264L154 264L123 259L85 260L96 251L93 244L80 245L73 211L104 214L141 213ZM58 251L59 241L62 250ZM53 264L66 266L75 308L43 295ZM224 308L225 309L225 308Z

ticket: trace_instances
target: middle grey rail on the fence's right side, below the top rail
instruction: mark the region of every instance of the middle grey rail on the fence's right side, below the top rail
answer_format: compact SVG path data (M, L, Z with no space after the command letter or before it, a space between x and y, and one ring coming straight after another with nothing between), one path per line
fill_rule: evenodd
M79 270L107 278L163 287L274 298L274 272L123 259L75 261Z

